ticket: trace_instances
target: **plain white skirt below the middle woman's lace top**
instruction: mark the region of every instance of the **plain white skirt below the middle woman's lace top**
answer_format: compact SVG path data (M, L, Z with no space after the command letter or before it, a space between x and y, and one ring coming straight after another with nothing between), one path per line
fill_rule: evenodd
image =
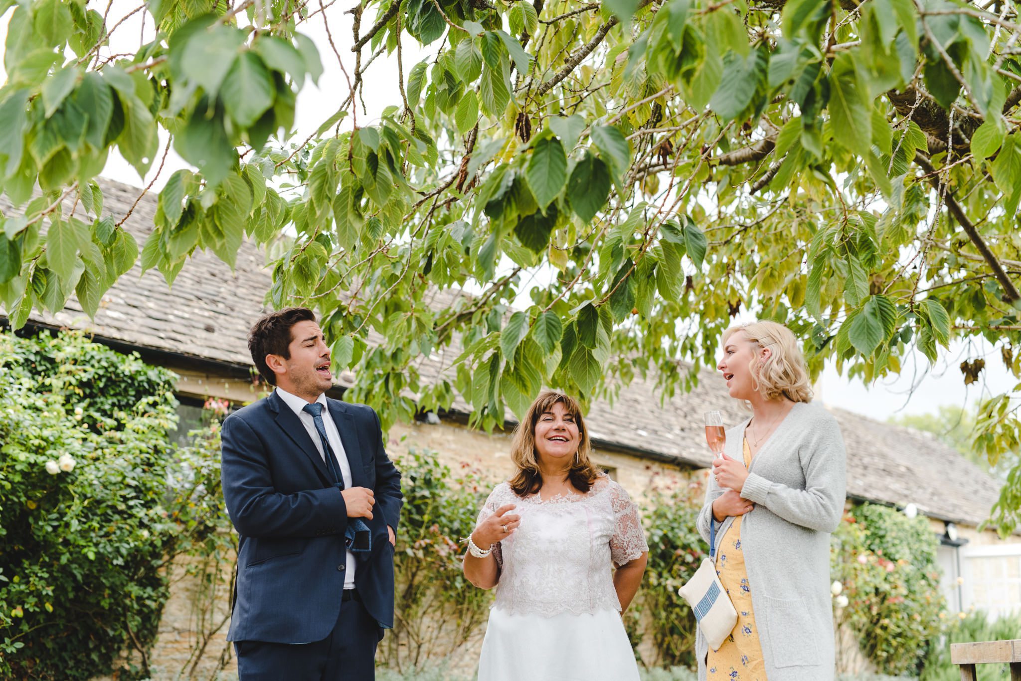
M616 611L553 617L489 611L479 681L638 681Z

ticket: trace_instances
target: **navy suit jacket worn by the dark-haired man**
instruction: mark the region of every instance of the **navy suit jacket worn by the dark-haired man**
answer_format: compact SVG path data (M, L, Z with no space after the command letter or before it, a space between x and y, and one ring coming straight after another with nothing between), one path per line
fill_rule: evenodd
M355 587L380 627L393 626L393 547L400 473L372 407L327 399L351 467L351 487L376 495L372 551L356 554ZM221 477L240 535L228 640L310 643L337 623L347 551L347 508L297 415L276 391L223 425Z

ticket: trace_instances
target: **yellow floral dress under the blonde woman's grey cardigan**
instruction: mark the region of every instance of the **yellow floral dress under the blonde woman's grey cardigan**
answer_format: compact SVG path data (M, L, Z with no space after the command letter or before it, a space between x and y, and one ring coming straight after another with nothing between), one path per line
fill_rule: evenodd
M744 440L744 467L751 464L751 448ZM751 612L751 585L744 569L744 552L741 550L741 520L734 519L727 535L723 538L716 558L716 574L726 589L730 601L737 611L737 624L723 642L719 650L709 649L706 661L709 679L732 679L733 681L767 681L766 666L763 662L759 630Z

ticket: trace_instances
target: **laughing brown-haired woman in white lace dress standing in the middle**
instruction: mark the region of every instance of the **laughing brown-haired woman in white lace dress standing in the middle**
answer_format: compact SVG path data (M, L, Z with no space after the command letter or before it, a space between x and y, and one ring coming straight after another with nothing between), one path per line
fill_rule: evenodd
M572 397L540 393L512 449L517 474L489 495L465 556L473 584L496 587L479 681L637 681L621 619L648 554L634 503L592 465Z

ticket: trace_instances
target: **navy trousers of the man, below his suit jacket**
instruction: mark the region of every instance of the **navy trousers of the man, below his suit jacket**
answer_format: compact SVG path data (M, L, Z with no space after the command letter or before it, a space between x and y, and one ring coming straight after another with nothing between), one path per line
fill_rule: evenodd
M340 603L340 615L322 641L289 645L235 641L239 681L374 681L382 636L357 594Z

